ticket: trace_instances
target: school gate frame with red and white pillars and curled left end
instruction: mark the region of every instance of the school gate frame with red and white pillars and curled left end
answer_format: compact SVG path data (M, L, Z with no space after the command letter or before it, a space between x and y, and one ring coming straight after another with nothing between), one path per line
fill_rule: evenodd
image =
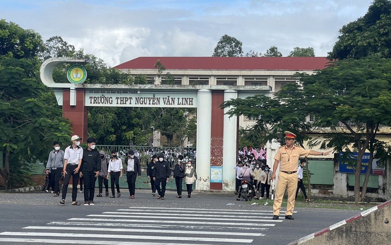
M235 190L238 118L219 108L232 98L268 95L270 86L226 85L107 85L56 83L54 68L60 64L88 64L82 58L54 57L43 62L40 77L54 90L63 116L71 121L73 134L87 139L87 106L194 107L197 108L197 190ZM78 75L79 79L87 74ZM77 76L76 76L77 78Z

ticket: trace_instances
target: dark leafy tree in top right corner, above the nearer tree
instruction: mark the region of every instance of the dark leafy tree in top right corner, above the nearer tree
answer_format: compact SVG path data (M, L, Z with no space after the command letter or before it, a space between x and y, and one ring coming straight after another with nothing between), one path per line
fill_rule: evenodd
M368 12L340 29L329 59L391 58L391 1L375 0Z

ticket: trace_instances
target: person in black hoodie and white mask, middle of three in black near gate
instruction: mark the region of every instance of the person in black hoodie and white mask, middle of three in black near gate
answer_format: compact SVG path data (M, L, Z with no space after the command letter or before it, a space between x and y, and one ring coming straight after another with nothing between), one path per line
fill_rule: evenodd
M155 163L155 166L152 169L152 177L155 181L156 190L158 190L158 199L164 200L166 185L167 181L170 179L171 169L169 163L164 160L164 155L162 153L159 155L158 159L159 161ZM160 189L160 183L162 183L162 189Z

